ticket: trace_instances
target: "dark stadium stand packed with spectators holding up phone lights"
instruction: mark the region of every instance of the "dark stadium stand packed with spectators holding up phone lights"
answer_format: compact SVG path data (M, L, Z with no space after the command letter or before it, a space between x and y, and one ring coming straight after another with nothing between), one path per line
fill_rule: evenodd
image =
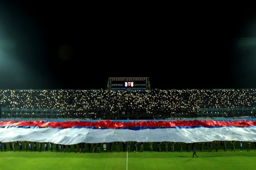
M255 105L256 89L0 90L2 111L3 108L15 110L15 113L19 109L60 109L61 118L163 119L177 117L177 114L197 117L199 108L248 108ZM225 115L229 117L228 112Z

